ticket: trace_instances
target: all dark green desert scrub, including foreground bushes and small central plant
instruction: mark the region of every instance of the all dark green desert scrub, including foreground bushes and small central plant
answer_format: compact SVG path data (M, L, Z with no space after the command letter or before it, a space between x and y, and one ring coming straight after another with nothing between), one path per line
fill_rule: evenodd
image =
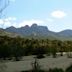
M0 61L21 61L24 56L35 56L33 58L35 62L31 65L32 70L22 72L72 72L72 65L65 70L50 68L45 71L40 69L37 62L37 59L46 56L57 59L57 57L62 57L64 52L66 57L72 57L72 41L0 36Z

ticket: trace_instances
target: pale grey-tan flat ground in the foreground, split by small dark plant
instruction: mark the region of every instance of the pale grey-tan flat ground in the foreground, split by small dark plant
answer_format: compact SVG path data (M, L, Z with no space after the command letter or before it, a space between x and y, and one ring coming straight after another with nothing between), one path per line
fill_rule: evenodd
M7 61L4 64L7 66L6 72L20 72L32 69L32 62L34 62L34 56L25 56L22 61ZM72 58L67 58L67 56L57 58L46 56L46 58L38 59L38 63L41 69L44 70L55 67L65 70L72 64Z

